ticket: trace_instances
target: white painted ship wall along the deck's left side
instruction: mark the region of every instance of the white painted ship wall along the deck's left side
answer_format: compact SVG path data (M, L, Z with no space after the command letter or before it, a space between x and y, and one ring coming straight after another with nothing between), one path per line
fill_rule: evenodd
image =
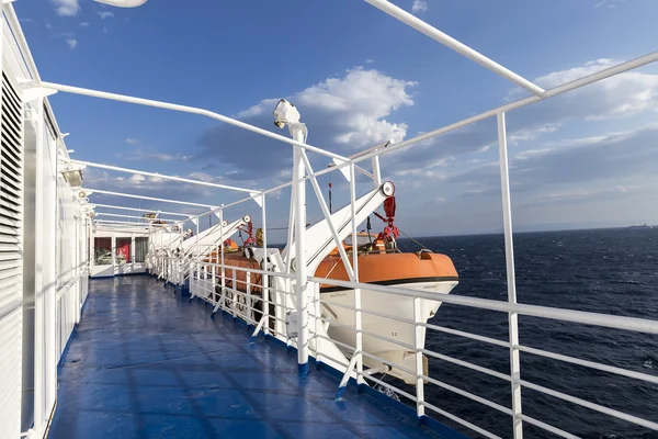
M13 9L3 4L0 147L0 437L41 438L57 364L88 292L89 219L61 175L68 153Z

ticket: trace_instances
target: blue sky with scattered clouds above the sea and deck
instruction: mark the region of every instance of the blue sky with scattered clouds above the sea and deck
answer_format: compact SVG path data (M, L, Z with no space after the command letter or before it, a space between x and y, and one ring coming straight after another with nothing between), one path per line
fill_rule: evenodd
M544 88L658 48L658 2L650 0L395 3ZM44 80L206 108L272 131L273 104L285 97L302 112L308 142L339 154L524 95L356 0L14 4ZM518 229L658 223L657 93L658 68L648 66L510 112ZM290 146L208 119L65 93L50 102L76 158L249 188L290 178ZM383 157L397 187L400 228L417 236L500 230L495 140L490 120ZM313 164L321 169L327 160ZM329 181L337 204L347 202L342 178L322 179L322 187ZM208 204L238 196L98 170L87 172L86 185ZM367 188L359 181L358 189ZM269 198L270 226L286 223L288 196ZM313 198L308 209L317 221ZM257 215L256 204L227 216L243 213Z

